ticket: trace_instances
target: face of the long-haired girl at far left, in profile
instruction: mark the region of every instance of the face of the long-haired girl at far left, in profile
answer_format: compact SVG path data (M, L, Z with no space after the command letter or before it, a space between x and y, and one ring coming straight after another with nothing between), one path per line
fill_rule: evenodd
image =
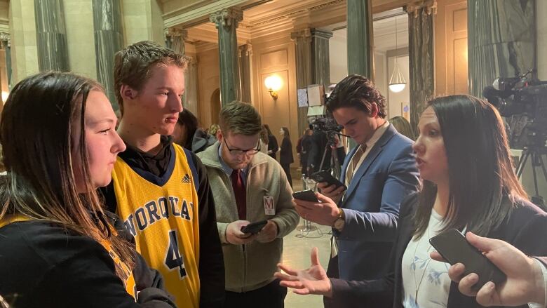
M93 189L106 186L112 180L112 169L119 152L126 145L116 133L116 114L108 98L102 91L90 91L86 101L84 132L86 133L86 148L90 182ZM78 192L86 191L86 181L82 174L82 163L79 153L80 126L79 120L72 124L73 144L72 161L74 178Z

